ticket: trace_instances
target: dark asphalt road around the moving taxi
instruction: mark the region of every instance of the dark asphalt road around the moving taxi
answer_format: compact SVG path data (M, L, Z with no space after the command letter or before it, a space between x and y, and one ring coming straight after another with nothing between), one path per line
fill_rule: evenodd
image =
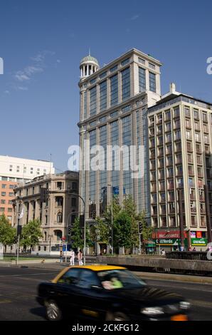
M0 267L0 321L45 321L36 302L39 282L50 280L58 270ZM191 319L212 321L212 284L145 279L147 284L183 295L191 301Z

